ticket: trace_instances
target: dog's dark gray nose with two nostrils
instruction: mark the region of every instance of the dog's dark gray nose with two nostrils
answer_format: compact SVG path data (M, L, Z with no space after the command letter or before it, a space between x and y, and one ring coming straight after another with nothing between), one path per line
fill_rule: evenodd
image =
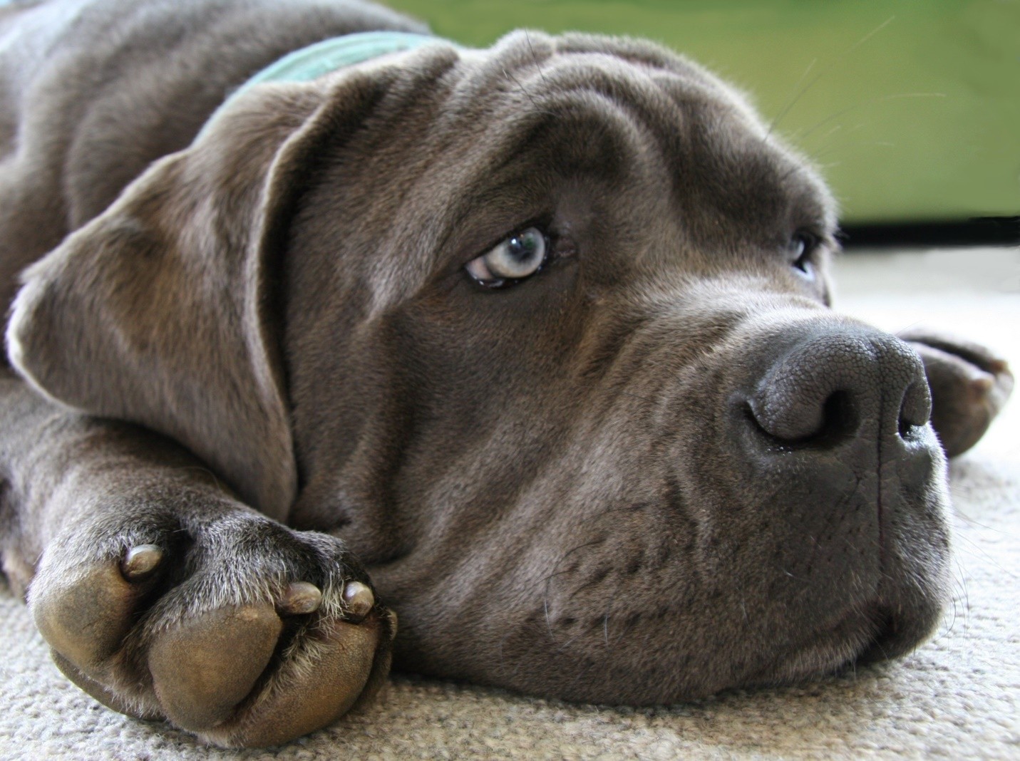
M818 448L862 435L876 441L903 438L931 415L917 353L892 336L856 325L814 327L787 344L748 404L771 439Z

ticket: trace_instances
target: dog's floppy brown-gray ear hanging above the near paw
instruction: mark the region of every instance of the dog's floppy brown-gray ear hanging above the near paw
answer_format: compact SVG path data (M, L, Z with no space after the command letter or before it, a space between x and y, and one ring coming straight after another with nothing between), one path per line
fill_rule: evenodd
M189 447L282 518L296 491L278 259L324 141L384 73L253 90L22 275L10 359L38 390Z

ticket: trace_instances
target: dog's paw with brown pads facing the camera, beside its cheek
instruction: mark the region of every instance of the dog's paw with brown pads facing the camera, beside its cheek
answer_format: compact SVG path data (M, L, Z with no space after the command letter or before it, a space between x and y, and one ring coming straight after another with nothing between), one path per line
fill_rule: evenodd
M214 745L267 746L385 680L396 619L339 540L243 508L138 512L64 531L30 588L57 665L97 700Z

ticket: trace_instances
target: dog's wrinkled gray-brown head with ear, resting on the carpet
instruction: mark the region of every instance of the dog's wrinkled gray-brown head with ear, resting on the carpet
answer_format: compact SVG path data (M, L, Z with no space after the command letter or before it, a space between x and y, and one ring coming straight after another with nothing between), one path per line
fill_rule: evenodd
M672 701L937 620L923 370L828 309L833 225L662 49L438 44L240 98L29 270L9 347L336 529L403 664Z

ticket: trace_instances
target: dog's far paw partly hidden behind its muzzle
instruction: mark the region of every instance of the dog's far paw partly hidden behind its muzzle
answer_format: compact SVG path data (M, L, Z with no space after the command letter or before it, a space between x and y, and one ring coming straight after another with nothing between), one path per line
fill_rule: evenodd
M966 452L1013 391L1009 365L985 347L946 334L916 329L900 338L924 360L931 387L931 424L946 453L954 457Z

